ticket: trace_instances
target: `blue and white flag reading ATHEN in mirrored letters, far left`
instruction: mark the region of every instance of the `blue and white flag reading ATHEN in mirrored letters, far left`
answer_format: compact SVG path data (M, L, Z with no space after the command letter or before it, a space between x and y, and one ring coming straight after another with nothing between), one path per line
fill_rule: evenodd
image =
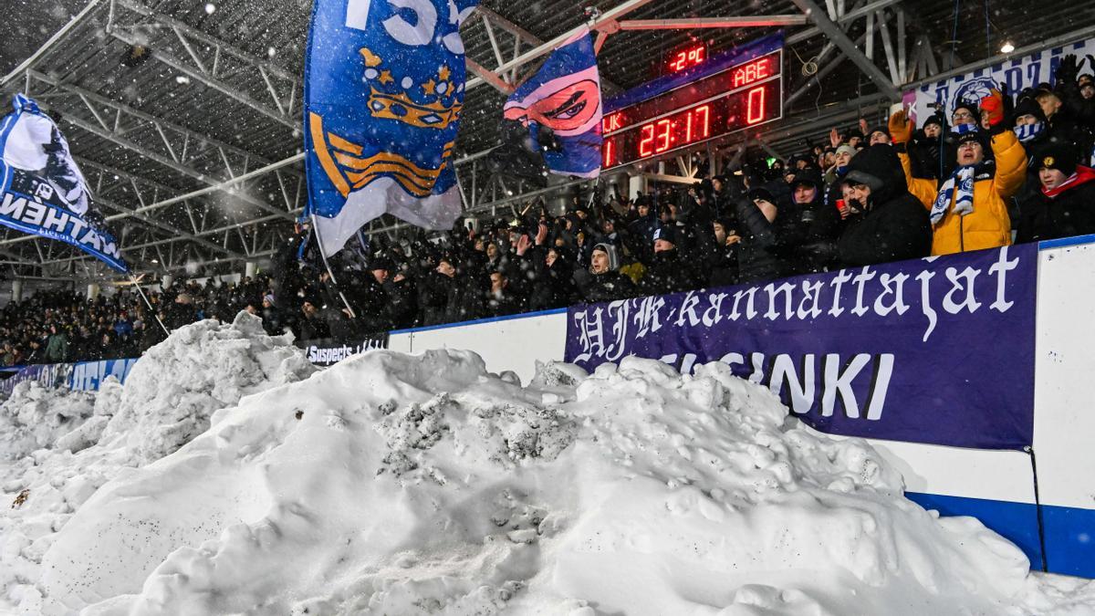
M128 272L60 129L23 94L12 106L0 121L0 225L70 243Z

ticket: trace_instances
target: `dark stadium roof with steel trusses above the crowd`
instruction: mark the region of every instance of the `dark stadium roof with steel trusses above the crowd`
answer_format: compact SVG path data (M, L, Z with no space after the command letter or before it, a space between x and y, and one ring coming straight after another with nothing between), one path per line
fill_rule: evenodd
M301 109L311 2L72 2L78 12L59 30L9 58L14 68L0 91L5 99L26 92L61 115L127 260L141 272L193 273L239 271L273 254L307 199ZM577 183L515 184L481 159L498 138L505 90L584 24L603 45L599 65L610 93L648 80L690 41L722 49L784 33L784 118L716 142L707 153L723 168L744 145L786 156L831 126L864 115L880 121L918 81L1095 35L1092 3L958 2L963 39L954 41L949 0L816 2L486 0L462 28L470 79L456 166L465 209L508 214L532 195ZM0 26L0 36L13 41L3 32L11 27ZM999 55L992 47L1005 38L1022 46ZM687 156L659 170L667 167L695 173ZM396 227L378 220L371 230ZM0 264L19 277L111 276L74 249L10 230L0 232Z

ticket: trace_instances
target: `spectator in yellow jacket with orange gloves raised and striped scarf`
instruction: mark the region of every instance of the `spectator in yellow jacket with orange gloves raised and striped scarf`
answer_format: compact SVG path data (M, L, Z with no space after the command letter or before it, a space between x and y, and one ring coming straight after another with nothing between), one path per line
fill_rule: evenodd
M987 133L963 126L958 133L958 169L943 180L912 176L912 166L904 144L912 135L912 124L903 111L890 117L889 129L901 167L909 181L909 192L929 209L932 228L932 254L952 254L967 250L998 248L1012 243L1012 224L1007 199L1018 192L1026 179L1026 152L1004 122L1003 95L993 90L981 101ZM991 147L992 157L986 153Z

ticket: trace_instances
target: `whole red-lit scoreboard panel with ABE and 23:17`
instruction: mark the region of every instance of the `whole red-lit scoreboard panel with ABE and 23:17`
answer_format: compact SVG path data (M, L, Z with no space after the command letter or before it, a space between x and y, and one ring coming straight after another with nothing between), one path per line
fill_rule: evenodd
M783 117L783 49L607 112L601 168L671 152Z

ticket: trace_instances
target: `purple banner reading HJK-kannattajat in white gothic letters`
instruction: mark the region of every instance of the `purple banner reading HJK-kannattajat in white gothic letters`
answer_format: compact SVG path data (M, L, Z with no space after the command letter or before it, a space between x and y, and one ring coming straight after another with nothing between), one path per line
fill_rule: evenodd
M724 362L832 434L1022 449L1037 246L577 306L566 361Z

